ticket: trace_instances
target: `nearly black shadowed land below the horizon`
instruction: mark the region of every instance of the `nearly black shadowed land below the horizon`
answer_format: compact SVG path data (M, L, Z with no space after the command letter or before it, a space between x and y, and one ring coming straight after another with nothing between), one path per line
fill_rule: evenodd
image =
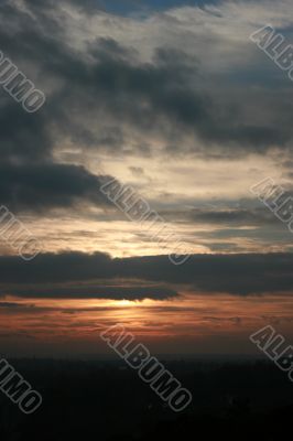
M174 413L123 362L9 361L43 396L33 415L0 394L0 441L282 440L293 384L264 362L165 362L193 394Z

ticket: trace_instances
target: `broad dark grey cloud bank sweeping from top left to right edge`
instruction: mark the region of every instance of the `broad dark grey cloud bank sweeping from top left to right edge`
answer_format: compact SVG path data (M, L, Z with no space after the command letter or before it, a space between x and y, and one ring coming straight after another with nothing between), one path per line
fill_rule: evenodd
M12 137L10 147L3 149L10 152L15 149L21 154L22 143L25 155L30 148L37 144L39 154L41 151L47 152L48 146L53 148L56 141L51 139L52 131L48 128L52 123L57 128L57 139L70 137L75 142L83 141L98 148L97 123L100 116L104 129L110 127L121 132L121 125L129 123L135 129L140 128L142 133L158 131L167 142L174 139L175 132L181 137L185 131L185 135L196 135L207 143L216 141L224 150L231 152L236 148L263 150L284 144L291 139L292 127L287 118L282 126L272 121L252 123L246 120L241 100L232 105L225 97L216 103L213 88L203 93L198 61L184 51L156 47L152 62L143 63L133 49L124 47L111 39L98 39L88 44L84 53L75 52L66 42L62 20L58 21L57 17L54 19L57 11L61 13L54 4L26 2L37 20L14 10L7 2L0 8L2 23L8 17L13 17L12 24L2 26L0 31L1 49L24 65L35 63L36 71L43 73L44 86L47 82L61 82L58 88L47 94L42 116L37 115L39 121L34 119L34 122L30 122L37 123L35 136L31 135L33 139L17 137L13 141ZM63 14L66 12L63 11ZM91 57L91 62L86 55ZM280 110L280 101L275 104ZM90 116L97 117L95 123ZM26 120L28 117L18 117L20 127L25 126L21 118ZM13 122L13 118L10 120ZM34 133L33 130L30 132ZM9 138L8 132L6 144ZM113 144L115 149L122 147L117 146L117 138ZM107 147L111 149L111 142Z

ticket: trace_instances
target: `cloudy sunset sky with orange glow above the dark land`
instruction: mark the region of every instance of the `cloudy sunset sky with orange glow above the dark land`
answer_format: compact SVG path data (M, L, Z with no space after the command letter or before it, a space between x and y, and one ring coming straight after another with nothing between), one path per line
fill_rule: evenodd
M293 189L293 84L249 39L293 43L291 0L3 0L0 23L46 96L28 114L0 87L0 202L42 243L24 261L0 237L2 352L100 355L117 323L159 354L253 354L268 324L292 343L292 234L250 187Z

